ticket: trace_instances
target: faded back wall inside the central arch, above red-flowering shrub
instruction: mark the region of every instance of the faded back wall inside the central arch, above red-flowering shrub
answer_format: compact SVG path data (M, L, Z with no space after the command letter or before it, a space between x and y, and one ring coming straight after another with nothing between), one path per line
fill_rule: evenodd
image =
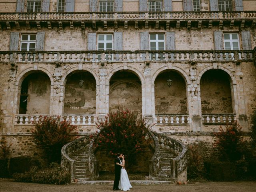
M118 108L142 112L141 84L131 72L116 72L110 80L109 111Z

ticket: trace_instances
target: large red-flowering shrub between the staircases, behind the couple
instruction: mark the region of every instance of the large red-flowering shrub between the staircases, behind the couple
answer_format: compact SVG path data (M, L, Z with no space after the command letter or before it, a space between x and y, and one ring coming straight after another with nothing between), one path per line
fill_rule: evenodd
M138 118L138 112L118 110L110 112L105 121L97 122L100 132L94 134L95 150L106 151L108 156L119 152L125 154L126 165L136 164L138 154L147 150L152 140L148 137L149 127L144 118Z

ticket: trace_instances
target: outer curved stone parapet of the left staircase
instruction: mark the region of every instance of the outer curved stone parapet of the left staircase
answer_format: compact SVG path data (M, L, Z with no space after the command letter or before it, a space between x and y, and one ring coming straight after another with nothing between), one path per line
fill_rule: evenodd
M78 150L79 148L88 146L89 142L89 136L84 136L67 143L61 149L61 166L64 167L66 170L69 170L71 174L71 182L73 182L73 180L75 179L76 162L72 158L70 158L70 155L73 152L76 152L76 150Z

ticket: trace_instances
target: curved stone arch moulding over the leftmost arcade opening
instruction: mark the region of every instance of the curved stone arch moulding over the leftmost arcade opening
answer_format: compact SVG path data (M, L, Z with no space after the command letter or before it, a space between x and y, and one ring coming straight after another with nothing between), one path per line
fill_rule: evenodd
M26 70L22 71L17 76L15 86L21 85L22 81L24 80L24 78L26 78L26 76L32 74L33 72L37 72L37 71L41 71L41 72L45 73L50 78L51 86L54 85L54 79L48 70L46 70L45 68L42 68L42 67L38 67L37 70L35 70L34 67L30 67L30 68L27 68Z

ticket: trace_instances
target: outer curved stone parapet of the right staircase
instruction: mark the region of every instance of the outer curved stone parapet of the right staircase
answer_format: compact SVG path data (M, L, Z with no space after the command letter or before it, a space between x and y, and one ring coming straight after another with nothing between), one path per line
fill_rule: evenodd
M154 132L155 136L158 137L160 146L172 150L174 154L178 154L176 158L170 161L171 164L171 178L177 180L178 176L187 167L187 148L180 141L164 136L162 134Z

